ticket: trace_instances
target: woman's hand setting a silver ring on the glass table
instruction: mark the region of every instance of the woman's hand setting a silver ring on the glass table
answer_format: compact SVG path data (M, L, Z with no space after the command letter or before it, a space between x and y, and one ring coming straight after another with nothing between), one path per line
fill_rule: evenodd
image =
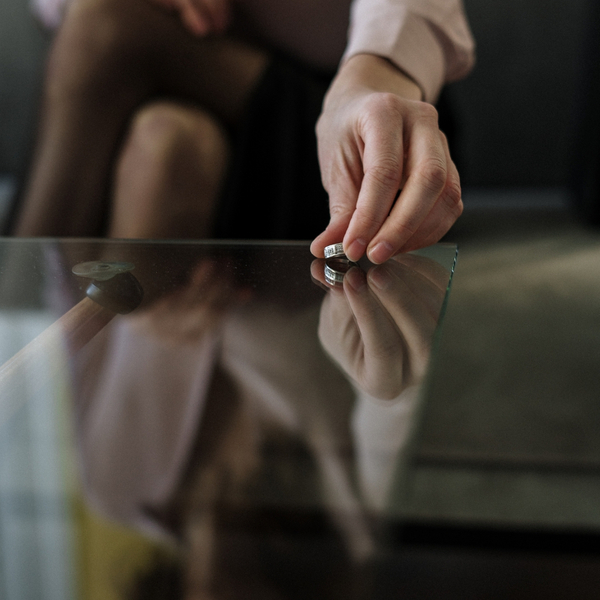
M420 98L383 58L357 55L341 67L317 124L331 221L311 246L315 256L343 240L350 260L366 252L379 264L437 242L461 214L437 111Z

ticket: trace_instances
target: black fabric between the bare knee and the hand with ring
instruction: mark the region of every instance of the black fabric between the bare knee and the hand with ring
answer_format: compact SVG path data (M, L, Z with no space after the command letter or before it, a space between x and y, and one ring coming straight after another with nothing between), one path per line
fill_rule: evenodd
M234 140L216 237L308 240L326 227L315 125L330 82L330 75L273 60Z

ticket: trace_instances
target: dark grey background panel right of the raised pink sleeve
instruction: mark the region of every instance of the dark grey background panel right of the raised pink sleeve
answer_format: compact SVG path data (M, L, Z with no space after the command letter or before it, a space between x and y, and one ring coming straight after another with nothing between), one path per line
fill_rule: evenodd
M465 0L478 61L447 90L465 185L565 185L593 1Z

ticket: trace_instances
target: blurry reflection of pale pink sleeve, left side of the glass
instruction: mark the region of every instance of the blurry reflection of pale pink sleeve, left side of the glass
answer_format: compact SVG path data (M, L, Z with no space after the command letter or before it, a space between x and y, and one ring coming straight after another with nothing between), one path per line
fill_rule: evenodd
M187 465L218 336L174 345L124 318L105 330L103 342L76 367L85 493L101 513L164 537L171 532L156 515L169 506ZM90 371L98 373L90 378Z

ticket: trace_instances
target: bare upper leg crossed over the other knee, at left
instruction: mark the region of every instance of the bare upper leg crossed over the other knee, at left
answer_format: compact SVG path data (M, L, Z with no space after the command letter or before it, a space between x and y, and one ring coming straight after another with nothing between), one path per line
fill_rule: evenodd
M100 234L114 160L136 110L171 97L235 125L267 62L240 42L193 37L148 0L75 0L48 64L17 235Z

